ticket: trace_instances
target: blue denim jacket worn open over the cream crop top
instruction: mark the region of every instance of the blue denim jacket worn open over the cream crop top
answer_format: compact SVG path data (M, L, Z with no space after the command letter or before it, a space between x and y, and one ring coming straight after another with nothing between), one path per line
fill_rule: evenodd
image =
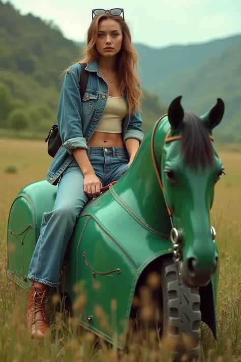
M99 73L97 62L90 62L85 68L89 72L86 90L80 101L79 79L80 64L72 65L63 81L57 111L57 124L62 146L52 159L46 180L56 185L59 176L74 158L73 149L84 148L95 132L103 115L108 97L108 86ZM127 97L123 96L127 103ZM136 114L123 119L123 141L136 138L143 140L142 120L139 110Z

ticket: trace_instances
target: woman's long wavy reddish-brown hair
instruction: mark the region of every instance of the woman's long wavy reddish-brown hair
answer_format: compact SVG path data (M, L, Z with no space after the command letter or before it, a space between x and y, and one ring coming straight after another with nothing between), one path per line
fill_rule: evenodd
M98 61L99 52L96 48L99 23L106 19L117 21L122 29L123 41L116 58L116 71L118 74L119 91L122 96L126 95L128 104L128 114L134 114L140 108L141 90L140 80L136 70L138 69L138 55L132 45L131 32L127 23L121 16L103 14L96 16L87 31L87 45L83 48L83 55L75 63L88 63Z

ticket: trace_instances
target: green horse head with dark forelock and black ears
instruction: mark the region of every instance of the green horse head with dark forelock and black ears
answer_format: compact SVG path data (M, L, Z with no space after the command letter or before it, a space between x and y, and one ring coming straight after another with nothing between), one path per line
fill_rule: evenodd
M165 132L161 119L156 123L152 154L171 220L170 237L180 275L185 285L200 287L210 282L218 267L210 209L224 168L212 130L223 118L224 102L218 98L209 112L198 117L184 111L181 99L174 99L168 108Z

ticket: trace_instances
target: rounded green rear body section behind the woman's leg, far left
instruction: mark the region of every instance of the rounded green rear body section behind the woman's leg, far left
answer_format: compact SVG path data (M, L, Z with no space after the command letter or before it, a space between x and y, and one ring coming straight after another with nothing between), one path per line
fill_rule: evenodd
M25 276L40 234L43 213L52 209L56 190L56 186L45 180L27 185L19 192L10 209L7 235L10 245L8 272L25 288L31 283L25 280ZM27 229L28 225L31 225L30 229ZM15 236L11 231L20 235Z

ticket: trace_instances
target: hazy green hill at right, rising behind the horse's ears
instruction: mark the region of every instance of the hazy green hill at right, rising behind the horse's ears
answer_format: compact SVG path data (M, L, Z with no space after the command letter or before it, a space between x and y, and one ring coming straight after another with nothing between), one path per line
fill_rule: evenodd
M241 140L241 45L224 50L199 67L173 75L152 90L164 103L183 95L184 107L199 115L221 97L226 110L217 134L223 141Z

